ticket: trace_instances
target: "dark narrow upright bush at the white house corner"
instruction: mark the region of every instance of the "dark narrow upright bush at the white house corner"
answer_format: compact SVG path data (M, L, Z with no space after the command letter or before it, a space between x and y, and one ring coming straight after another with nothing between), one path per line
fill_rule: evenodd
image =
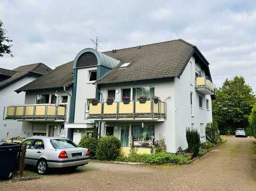
M186 139L188 142L188 149L189 153L193 153L193 157L196 157L199 152L200 146L200 135L196 129L187 128L186 130Z

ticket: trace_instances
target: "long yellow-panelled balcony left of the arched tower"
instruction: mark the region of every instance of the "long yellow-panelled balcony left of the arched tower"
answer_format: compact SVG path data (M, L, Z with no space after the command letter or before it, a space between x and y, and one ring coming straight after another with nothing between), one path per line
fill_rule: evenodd
M4 119L31 120L66 120L66 106L55 104L36 104L22 106L8 106L4 108Z

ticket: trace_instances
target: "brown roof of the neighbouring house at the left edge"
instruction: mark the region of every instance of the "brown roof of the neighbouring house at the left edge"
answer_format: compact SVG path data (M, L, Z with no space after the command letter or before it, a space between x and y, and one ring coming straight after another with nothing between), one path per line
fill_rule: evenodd
M38 68L40 68L41 73L37 72ZM16 69L13 69L13 71L16 71L16 73L13 76L0 82L0 90L7 87L10 84L17 82L18 80L24 78L25 76L32 76L32 75L41 76L51 71L51 69L46 65L44 65L43 63L36 63L36 64L19 66Z

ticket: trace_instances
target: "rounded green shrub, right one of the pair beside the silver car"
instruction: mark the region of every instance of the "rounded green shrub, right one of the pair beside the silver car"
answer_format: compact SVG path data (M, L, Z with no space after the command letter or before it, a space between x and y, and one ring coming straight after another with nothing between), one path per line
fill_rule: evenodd
M96 158L98 160L116 160L119 156L121 142L115 136L106 136L100 138L96 149Z

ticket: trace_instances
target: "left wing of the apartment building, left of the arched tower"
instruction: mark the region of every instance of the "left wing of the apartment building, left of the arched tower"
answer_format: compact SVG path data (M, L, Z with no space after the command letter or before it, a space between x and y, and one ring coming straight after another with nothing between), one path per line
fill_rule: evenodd
M65 136L64 123L69 116L69 103L73 82L73 62L68 62L33 82L16 90L25 92L22 106L8 107L12 117L22 122L22 135L29 136ZM12 111L15 109L15 115ZM20 122L20 123L21 123Z

